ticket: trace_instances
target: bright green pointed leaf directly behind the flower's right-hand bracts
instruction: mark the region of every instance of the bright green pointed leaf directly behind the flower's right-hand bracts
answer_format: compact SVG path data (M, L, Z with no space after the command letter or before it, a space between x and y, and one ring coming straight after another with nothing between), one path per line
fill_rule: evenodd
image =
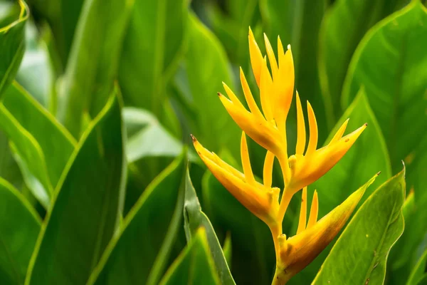
M368 128L364 130L364 133L362 133L357 142L354 143L342 160L340 160L327 175L321 177L308 187L309 200L311 200L314 190L317 190L319 194L320 217L324 217L325 214L341 204L344 199L352 194L354 189L357 189L363 181L369 180L376 172L381 171L381 175L376 178L373 186L367 189L367 192L361 199L362 202L369 197L376 187L391 177L389 155L384 138L382 137L381 129L376 122L374 113L372 113L369 107L364 90L360 90L359 95L357 95L352 105L344 112L344 115L342 115L342 118L338 121L337 125L335 125L334 130L332 130L326 142L332 139L332 136L347 118L349 118L347 132L356 130L364 123L368 124ZM362 202L360 204L362 204ZM297 223L298 220L295 219L294 229L297 228ZM327 252L332 248L332 244L334 244L334 242L332 242L330 247L327 247L315 261L307 266L306 269L293 277L290 283L305 284L312 281L322 265L322 262L327 257Z

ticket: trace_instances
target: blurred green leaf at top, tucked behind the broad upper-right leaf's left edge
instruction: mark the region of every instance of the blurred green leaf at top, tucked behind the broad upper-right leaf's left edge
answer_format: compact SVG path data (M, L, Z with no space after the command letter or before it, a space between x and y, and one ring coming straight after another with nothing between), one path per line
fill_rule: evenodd
M399 9L401 2L337 0L325 14L320 28L319 76L327 113L334 119L342 114L342 85L359 41L377 21Z

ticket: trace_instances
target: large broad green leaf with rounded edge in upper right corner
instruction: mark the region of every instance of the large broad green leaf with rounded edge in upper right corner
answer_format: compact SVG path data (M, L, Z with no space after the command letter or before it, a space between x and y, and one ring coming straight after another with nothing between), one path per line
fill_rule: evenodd
M426 45L427 10L419 1L412 1L367 33L344 83L344 106L364 86L394 170L427 136L427 120L419 119L426 116L427 108Z

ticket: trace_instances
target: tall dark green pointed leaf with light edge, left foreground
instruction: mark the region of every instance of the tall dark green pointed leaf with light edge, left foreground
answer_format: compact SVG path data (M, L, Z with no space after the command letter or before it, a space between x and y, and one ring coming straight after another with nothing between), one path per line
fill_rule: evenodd
M26 284L85 284L117 229L126 164L115 93L83 133L61 176Z

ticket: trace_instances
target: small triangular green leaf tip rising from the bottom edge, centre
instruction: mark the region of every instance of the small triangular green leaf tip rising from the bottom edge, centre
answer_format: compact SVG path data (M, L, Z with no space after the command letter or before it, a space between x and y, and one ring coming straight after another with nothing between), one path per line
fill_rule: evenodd
M160 284L221 284L215 274L214 261L204 228L169 267Z

